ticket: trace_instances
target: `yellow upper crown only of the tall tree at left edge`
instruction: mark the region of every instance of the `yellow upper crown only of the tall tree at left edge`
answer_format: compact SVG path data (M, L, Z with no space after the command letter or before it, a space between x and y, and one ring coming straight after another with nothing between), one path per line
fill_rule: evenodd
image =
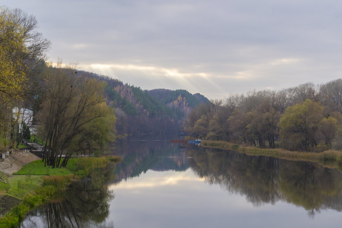
M51 42L37 28L34 16L0 7L0 107L21 96L32 62L46 57Z

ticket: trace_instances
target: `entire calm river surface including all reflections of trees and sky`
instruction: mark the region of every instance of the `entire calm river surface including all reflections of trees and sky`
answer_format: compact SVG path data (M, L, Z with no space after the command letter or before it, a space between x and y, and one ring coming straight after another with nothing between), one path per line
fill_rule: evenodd
M123 139L112 150L121 163L73 183L21 227L341 227L337 169L173 138Z

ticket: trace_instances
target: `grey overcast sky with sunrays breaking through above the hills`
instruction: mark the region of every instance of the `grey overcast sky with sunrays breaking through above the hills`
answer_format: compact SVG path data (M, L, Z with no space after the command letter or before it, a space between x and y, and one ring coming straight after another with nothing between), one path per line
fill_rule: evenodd
M341 78L342 1L2 0L36 16L49 61L211 98Z

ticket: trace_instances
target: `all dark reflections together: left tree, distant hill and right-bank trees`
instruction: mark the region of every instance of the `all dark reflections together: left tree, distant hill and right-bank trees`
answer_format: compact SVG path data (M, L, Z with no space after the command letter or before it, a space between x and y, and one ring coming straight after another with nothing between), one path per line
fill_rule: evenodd
M107 183L139 177L147 170L182 172L190 168L208 184L245 196L257 207L280 201L303 207L309 216L326 209L342 211L341 172L312 162L248 156L191 145L179 148L168 140L127 140L116 151L120 152L122 162L115 171L114 166L107 166L74 183L64 201L56 200L31 212L22 227L114 227L113 223L105 224L108 202L114 197Z

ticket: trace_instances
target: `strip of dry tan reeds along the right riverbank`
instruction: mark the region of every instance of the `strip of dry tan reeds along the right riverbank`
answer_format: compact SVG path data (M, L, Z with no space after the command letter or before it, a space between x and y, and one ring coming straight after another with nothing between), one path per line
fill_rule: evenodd
M287 160L315 161L319 163L334 161L337 163L342 163L342 151L340 150L327 150L319 153L300 152L285 149L268 149L253 146L240 146L234 143L215 140L202 140L201 146L210 148L220 148L226 150L235 150L246 153L247 155L270 156Z

